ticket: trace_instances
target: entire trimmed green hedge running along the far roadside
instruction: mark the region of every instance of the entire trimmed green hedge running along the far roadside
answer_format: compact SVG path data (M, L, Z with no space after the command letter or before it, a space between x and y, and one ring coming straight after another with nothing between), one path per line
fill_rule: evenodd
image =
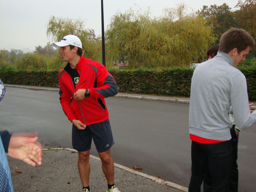
M240 66L247 79L250 101L256 101L256 67ZM171 67L166 69L139 68L109 72L115 78L120 92L190 96L190 83L193 68ZM58 71L5 71L0 78L6 84L58 87Z

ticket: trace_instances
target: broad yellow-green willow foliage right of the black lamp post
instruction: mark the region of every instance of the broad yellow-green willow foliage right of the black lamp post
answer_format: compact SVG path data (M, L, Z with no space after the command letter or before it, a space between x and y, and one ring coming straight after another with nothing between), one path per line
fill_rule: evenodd
M123 57L135 67L184 66L202 59L215 41L211 27L202 17L186 14L182 4L164 13L151 18L149 9L130 8L111 17L106 41L113 59Z

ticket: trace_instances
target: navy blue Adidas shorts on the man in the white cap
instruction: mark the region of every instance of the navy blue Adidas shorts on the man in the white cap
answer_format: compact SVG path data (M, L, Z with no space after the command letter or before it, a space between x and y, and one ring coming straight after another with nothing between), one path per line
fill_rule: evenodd
M79 130L72 126L72 146L77 151L91 149L91 141L99 153L107 151L115 143L110 127L109 119L101 123L86 126L85 130Z

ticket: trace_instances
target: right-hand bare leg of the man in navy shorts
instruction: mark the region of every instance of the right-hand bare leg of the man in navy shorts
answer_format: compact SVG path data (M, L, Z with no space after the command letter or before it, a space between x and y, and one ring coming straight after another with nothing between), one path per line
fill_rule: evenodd
M110 156L110 149L99 153L99 157L101 158L102 171L107 178L107 183L112 185L114 183L114 162Z

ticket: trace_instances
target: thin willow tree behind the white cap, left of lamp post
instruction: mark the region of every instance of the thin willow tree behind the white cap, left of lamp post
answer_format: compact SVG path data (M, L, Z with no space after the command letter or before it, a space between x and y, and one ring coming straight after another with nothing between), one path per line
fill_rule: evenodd
M82 19L52 16L47 24L46 33L54 42L61 41L66 35L76 35L82 42L83 55L102 62L100 37L96 37L94 30L86 29Z

